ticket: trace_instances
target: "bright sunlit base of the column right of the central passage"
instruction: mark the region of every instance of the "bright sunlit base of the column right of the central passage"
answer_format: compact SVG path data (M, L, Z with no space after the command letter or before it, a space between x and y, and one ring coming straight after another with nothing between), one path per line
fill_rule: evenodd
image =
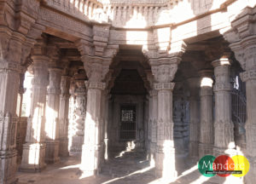
M157 147L157 152L155 153L155 175L161 181L176 181L175 148Z

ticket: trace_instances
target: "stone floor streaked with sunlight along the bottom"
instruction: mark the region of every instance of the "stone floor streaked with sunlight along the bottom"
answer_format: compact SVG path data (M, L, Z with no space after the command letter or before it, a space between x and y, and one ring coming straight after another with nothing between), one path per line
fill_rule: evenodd
M148 166L148 160L138 152L122 152L111 158L102 167L101 174L83 178L79 172L79 157L62 158L59 164L49 164L37 174L17 173L19 184L158 184L170 183L154 178L154 168ZM177 183L217 184L230 183L224 178L207 178L199 173L194 165L178 176ZM233 182L234 184L234 182Z

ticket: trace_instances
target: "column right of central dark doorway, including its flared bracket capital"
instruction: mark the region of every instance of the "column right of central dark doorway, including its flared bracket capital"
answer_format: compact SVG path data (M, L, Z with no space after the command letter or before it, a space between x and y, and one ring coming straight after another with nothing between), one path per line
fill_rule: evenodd
M172 90L171 83L177 72L181 59L172 57L159 59L152 66L155 81L154 89L158 91L157 150L155 153L155 171L164 181L174 181L177 177L175 168L175 149L173 141ZM152 62L152 65L154 63Z

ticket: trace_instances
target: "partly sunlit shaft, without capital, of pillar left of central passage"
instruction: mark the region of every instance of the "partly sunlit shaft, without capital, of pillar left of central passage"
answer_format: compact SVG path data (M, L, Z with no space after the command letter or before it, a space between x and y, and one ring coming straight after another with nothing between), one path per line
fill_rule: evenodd
M102 126L101 105L102 90L105 83L86 82L87 107L84 129L84 145L80 170L83 175L95 175L99 170L101 155L100 126Z

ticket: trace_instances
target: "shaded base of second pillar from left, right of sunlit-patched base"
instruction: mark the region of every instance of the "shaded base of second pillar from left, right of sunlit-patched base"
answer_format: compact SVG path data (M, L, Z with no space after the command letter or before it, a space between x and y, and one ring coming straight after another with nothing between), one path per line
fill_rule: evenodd
M59 144L60 141L46 140L45 163L55 164L60 162Z

